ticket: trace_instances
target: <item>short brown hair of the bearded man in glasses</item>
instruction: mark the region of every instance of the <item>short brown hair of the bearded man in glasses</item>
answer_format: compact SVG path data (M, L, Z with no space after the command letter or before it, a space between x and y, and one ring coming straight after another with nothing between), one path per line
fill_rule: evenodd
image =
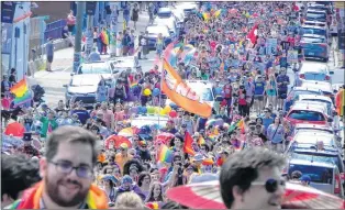
M92 148L92 164L97 162L96 136L86 129L80 126L65 125L53 131L49 135L46 147L45 157L51 161L57 153L58 145L62 142L89 144Z

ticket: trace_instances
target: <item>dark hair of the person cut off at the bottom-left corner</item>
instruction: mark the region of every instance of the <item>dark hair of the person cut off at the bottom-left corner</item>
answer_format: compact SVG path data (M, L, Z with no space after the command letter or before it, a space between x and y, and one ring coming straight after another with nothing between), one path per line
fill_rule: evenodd
M1 198L4 194L13 200L22 190L41 180L37 162L23 155L1 155Z

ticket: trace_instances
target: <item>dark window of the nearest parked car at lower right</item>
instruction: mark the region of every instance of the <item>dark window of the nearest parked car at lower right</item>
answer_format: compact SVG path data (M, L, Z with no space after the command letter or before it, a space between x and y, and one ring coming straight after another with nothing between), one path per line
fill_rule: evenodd
M312 183L320 184L332 184L333 183L333 168L320 167L320 166L310 166L310 165L298 165L290 164L289 175L293 172L301 172L303 175L308 175L311 178Z

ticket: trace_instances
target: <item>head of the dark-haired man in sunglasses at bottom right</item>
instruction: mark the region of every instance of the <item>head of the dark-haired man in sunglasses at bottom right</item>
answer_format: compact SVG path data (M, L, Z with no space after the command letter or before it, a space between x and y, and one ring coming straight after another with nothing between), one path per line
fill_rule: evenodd
M282 156L265 148L232 154L220 175L221 195L227 209L279 209L283 196ZM253 199L255 198L255 199Z

